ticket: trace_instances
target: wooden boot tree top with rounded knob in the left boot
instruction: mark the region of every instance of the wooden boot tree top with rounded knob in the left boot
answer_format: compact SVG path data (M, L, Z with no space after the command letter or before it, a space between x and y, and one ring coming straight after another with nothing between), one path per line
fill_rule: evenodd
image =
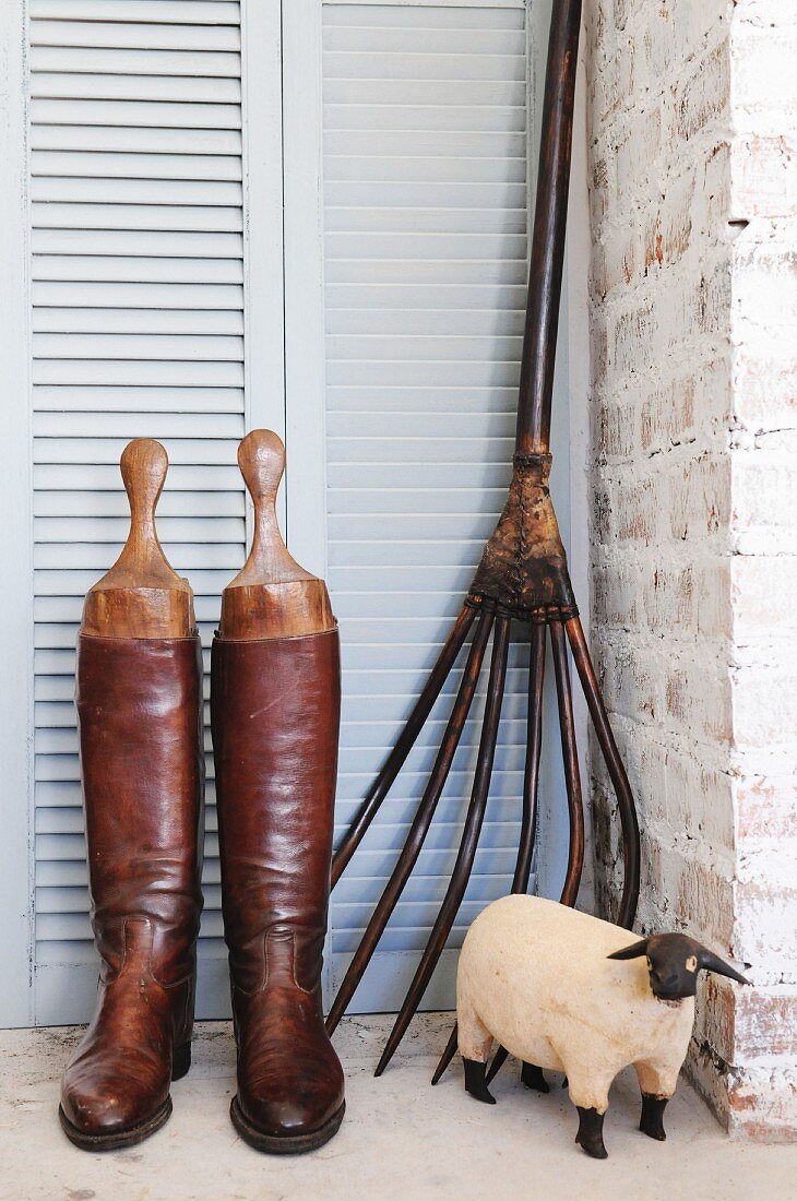
M114 566L86 596L80 629L100 638L187 638L196 627L193 594L169 567L155 530L168 455L154 438L134 438L119 466L130 533Z

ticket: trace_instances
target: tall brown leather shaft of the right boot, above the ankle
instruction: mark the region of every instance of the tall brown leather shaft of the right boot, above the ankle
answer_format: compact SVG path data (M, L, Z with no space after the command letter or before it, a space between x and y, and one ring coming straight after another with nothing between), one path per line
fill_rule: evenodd
M319 984L340 729L337 629L214 640L211 721L224 934L245 992Z

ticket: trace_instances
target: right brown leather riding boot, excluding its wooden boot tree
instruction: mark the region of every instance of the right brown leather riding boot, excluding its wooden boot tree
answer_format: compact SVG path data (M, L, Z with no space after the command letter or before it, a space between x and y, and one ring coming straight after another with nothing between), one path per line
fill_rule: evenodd
M344 1110L322 1012L340 724L337 629L216 638L211 718L238 1044L232 1119L258 1151L320 1147Z

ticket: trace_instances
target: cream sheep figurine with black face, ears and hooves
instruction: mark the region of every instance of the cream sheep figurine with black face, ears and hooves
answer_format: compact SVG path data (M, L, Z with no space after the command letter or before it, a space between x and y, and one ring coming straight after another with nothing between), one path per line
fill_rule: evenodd
M609 1089L633 1063L642 1091L640 1130L664 1140L695 1017L701 969L749 984L685 934L629 944L621 926L540 897L487 906L467 933L456 979L466 1091L495 1105L486 1062L493 1039L523 1060L521 1080L549 1092L543 1069L563 1071L579 1110L576 1142L606 1159Z

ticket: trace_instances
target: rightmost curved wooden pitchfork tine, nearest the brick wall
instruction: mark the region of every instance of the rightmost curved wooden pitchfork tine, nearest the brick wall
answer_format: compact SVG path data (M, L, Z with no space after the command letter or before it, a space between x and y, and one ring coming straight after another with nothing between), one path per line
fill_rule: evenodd
M595 734L600 743L611 782L615 785L619 819L623 831L623 897L619 907L618 925L630 930L636 915L636 903L640 897L640 826L634 805L631 785L625 775L623 760L619 757L615 735L609 724L606 706L598 687L595 669L592 664L587 639L579 617L570 617L565 629L573 650L573 661L581 680L581 687L587 700Z

